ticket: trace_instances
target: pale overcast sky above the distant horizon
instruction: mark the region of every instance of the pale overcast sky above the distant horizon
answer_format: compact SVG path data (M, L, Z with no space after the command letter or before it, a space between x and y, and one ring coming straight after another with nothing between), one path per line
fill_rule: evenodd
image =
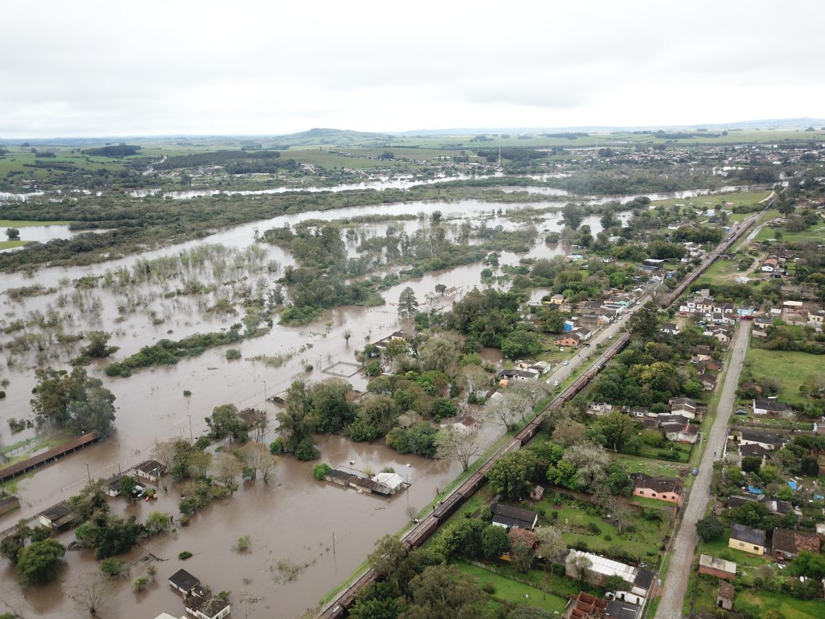
M0 137L823 118L823 17L822 0L3 2Z

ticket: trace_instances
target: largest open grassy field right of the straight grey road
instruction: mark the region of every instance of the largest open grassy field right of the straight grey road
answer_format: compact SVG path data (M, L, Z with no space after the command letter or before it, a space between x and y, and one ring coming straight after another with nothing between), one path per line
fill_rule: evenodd
M799 393L799 385L808 376L825 372L825 358L807 352L748 347L745 367L751 371L754 379L770 376L779 380L782 385L779 399L783 402L804 404L806 399Z

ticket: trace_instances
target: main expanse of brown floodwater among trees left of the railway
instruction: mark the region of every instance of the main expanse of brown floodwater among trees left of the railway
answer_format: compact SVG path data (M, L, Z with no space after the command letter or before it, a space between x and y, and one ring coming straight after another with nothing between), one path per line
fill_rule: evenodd
M191 333L205 333L220 328L229 328L238 322L239 316L220 316L203 311L198 301L190 296L173 296L165 299L163 292L174 291L179 280L163 283L144 283L134 289L117 290L97 287L91 291L71 296L75 291L71 281L82 276L100 276L107 270L118 267L130 268L139 258L158 258L177 254L183 249L194 248L205 243L223 243L230 248L243 249L254 243L255 230L263 231L272 226L294 225L308 219L339 219L355 215L398 214L416 215L420 211L441 210L447 224L457 223L453 218L483 217L488 226L502 224L514 229L520 224L508 219L507 213L525 206L512 204L491 204L479 201L453 203L413 202L400 205L352 207L340 210L309 211L299 215L283 215L271 220L244 224L224 229L208 239L181 243L172 247L131 256L101 265L75 268L50 268L37 272L34 277L23 273L4 274L2 291L10 287L43 286L59 289L54 293L24 299L19 302L7 295L0 296L0 311L7 322L31 316L31 312L46 312L53 309L60 314L71 314L64 328L73 333L90 330L104 330L113 333L111 344L120 347L113 360L119 360L140 347L155 343L161 338L179 339ZM535 206L544 207L542 202ZM498 215L498 211L502 215ZM501 253L502 264L515 264L519 258L529 255L534 258L549 258L563 255L567 249L563 243L544 243L543 228L559 229L556 213L540 215L536 223L540 233L527 254ZM593 234L601 230L597 216L588 217L585 224L592 227ZM426 228L428 218L392 222L397 228L413 231ZM356 229L369 229L374 234L383 234L388 224L357 224ZM373 234L370 232L370 234ZM266 260L276 260L281 267L292 264L292 258L280 248L268 245ZM44 508L62 499L77 494L87 480L88 472L95 478L106 478L117 470L127 470L139 461L150 457L153 443L169 437L200 436L207 431L205 416L219 404L236 404L238 408L256 407L269 413L271 427L274 428L274 404L266 403L266 395L284 390L292 380L303 378L318 381L326 378L322 372L334 361L353 361L357 348L365 342L384 338L398 328L409 328L406 321L399 321L394 304L403 288L410 286L417 299L424 304L425 297L432 293L436 284L461 286L460 296L474 286L481 287L482 265L472 264L441 272L430 272L421 278L406 281L384 291L387 305L372 308L342 307L325 312L313 324L303 328L275 325L271 333L235 345L243 358L227 361L224 357L227 347L207 350L200 357L182 359L176 366L162 366L136 371L130 378L109 378L101 371L101 365L92 365L89 372L100 377L116 396L117 432L106 442L87 447L35 475L16 480L16 493L21 497L22 508L14 513L0 516L0 530L11 527L20 517L31 517ZM260 272L250 275L252 282L263 278L270 286L278 275ZM213 283L209 273L203 275L206 283ZM68 282L67 282L68 279ZM238 277L243 283L245 277ZM232 294L232 286L224 286L218 280L216 295ZM506 287L506 286L505 286ZM144 302L134 305L133 310L121 312L118 306L125 304L125 297L143 295ZM436 303L448 309L451 300L436 297ZM60 305L63 303L63 305ZM345 331L351 332L349 343L343 338ZM16 335L0 335L4 346ZM44 352L21 352L12 354L7 347L2 351L0 370L2 377L9 380L5 387L7 398L0 400L0 442L11 445L35 436L29 429L12 436L7 420L12 417L31 418L31 389L35 385L34 369L37 356L43 365L65 367L69 357L76 351L64 350L56 344L46 347ZM260 355L283 355L285 361L279 367L267 366L252 361ZM45 358L44 358L45 357ZM485 360L501 363L497 350L484 351ZM308 370L308 366L312 369ZM365 388L365 378L351 376L347 379L356 389ZM184 390L191 396L185 397ZM46 428L44 428L46 429ZM485 439L492 441L498 429L493 422L485 428ZM274 431L266 437L269 442L275 437ZM177 569L186 567L214 591L231 590L231 601L235 616L243 610L240 600L246 593L249 600L261 598L258 602L246 602L248 617L295 617L308 607L314 607L318 599L351 573L364 560L374 542L384 533L396 532L409 521L409 507L420 509L436 497L436 490L443 489L460 471L460 466L444 462L429 461L416 456L401 456L383 445L353 443L342 437L318 437L322 450L321 461L332 466L355 461L357 467L369 467L378 471L384 466L393 466L401 475L408 475L412 487L408 495L394 498L389 503L371 496L359 495L355 491L343 490L332 484L317 482L311 475L312 463L299 463L290 457L282 460L276 479L268 486L243 484L231 499L226 499L202 510L193 518L190 527L158 536L148 541L147 550L167 559L158 564L158 584L153 584L143 593L134 594L130 589L130 579L144 575L145 565L134 566L130 579L115 583L117 594L103 605L101 614L110 617L154 617L159 612L182 615L180 597L166 584L166 579ZM409 465L409 466L408 466ZM157 503L131 507L121 499L112 499L115 509L126 509L145 517L152 509L174 513L177 517L178 498L173 489L168 494L161 491ZM332 532L335 532L335 553L332 553ZM238 536L252 538L252 552L239 554L231 550ZM73 534L61 536L64 543L71 541ZM329 547L329 550L328 550ZM195 554L182 565L177 554L189 550ZM136 550L126 560L134 560L145 554ZM304 566L292 582L281 582L281 571L277 565L281 561ZM97 573L97 562L85 550L69 552L67 566L61 571L56 583L45 588L19 588L12 568L7 561L0 564L0 601L24 617L67 617L78 610L70 597L78 582L87 574ZM134 610L139 607L139 612ZM0 603L0 612L5 611Z

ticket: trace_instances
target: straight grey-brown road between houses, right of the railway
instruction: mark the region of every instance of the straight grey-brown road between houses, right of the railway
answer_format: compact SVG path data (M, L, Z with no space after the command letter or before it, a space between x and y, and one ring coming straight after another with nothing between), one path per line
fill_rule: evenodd
M747 343L751 335L752 323L741 320L733 338L733 357L728 366L728 374L722 385L719 405L716 408L713 428L707 439L705 452L699 465L699 475L691 489L691 495L684 507L681 526L673 543L670 568L667 572L662 599L659 602L656 619L681 619L681 607L687 596L687 584L690 579L692 563L696 548L696 522L705 517L705 509L710 498L710 478L716 454L724 449L728 433L728 420L736 404L736 388L742 361L745 360Z

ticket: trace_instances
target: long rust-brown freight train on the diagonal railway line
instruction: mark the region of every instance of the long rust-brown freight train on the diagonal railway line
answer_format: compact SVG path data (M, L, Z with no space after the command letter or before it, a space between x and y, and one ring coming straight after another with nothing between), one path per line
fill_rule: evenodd
M736 243L739 239L741 239L742 235L745 234L747 230L750 229L750 227L756 222L759 215L760 214L757 213L756 215L748 217L746 220L742 220L742 224L739 224L735 229L733 229L724 241L719 243L719 246L715 248L714 251L710 253L698 267L689 273L683 281L679 283L679 286L676 286L673 291L671 291L660 301L659 305L662 309L672 305L673 302L676 301L688 289L688 287L691 286L691 284L705 272L705 269L707 269L717 258L719 258L719 254L726 252L733 245L733 243ZM521 428L521 431L513 437L512 441L507 442L504 446L493 453L493 455L479 467L479 470L476 470L473 475L470 475L469 478L464 481L463 484L453 490L430 515L425 517L421 522L418 522L415 527L405 533L401 537L401 542L404 546L407 546L408 550L412 550L427 541L427 539L429 539L430 536L436 532L436 529L441 527L441 525L444 524L450 516L452 516L458 508L460 508L464 502L484 484L487 480L484 474L495 464L498 458L506 454L508 451L519 450L521 447L524 447L528 442L530 442L530 439L535 437L541 429L541 424L544 423L544 418L547 414L551 413L555 409L559 409L559 407L563 406L563 404L578 395L579 392L581 392L591 380L596 378L599 372L605 369L613 357L625 349L629 341L629 333L622 333L619 338L616 338L615 342L612 343L604 352L602 352L601 356L596 359L596 361L593 361L586 371L582 372L582 376L579 376L576 380L573 380L571 385L568 385L568 387L566 387L559 395L552 399L544 410L537 414L535 418L530 421L530 423L527 423L524 428ZM366 587L368 584L375 582L375 579L375 572L371 568L367 569L365 573L361 574L361 576L356 579L354 583L344 589L344 591L340 593L335 600L330 602L328 606L321 611L318 617L320 619L339 619L339 617L346 617L348 609L355 604L356 598L358 593L361 592L361 589Z

